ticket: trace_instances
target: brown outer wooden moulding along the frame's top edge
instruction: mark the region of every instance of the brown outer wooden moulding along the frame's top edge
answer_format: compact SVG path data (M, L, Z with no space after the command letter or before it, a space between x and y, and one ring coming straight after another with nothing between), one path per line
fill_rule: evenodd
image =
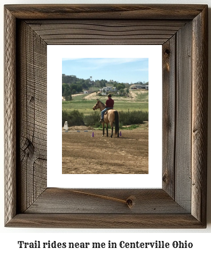
M25 4L5 5L19 19L193 19L199 4Z

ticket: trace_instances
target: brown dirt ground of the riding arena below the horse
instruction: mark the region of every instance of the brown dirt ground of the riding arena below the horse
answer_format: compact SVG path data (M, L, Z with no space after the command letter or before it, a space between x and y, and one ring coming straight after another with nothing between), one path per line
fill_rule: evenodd
M121 130L119 138L101 137L102 131L98 130L92 132L62 132L62 174L149 173L146 124L134 130Z

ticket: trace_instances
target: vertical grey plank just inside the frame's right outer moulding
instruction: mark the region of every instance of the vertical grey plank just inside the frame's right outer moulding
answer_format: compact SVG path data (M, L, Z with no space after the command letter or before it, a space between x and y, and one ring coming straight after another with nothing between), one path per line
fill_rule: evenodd
M191 210L192 22L177 33L175 200Z

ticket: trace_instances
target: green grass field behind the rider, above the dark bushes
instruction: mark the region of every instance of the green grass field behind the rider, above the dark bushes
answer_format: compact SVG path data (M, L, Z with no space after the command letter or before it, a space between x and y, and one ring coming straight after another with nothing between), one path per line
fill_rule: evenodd
M141 110L141 111L149 111L149 93L145 92L143 94L138 94L138 92L134 92L137 94L136 100L129 100L127 97L112 97L114 99L114 109L118 111L134 111L134 110ZM97 97L93 97L91 100L85 100L84 97L87 94L81 94L73 97L72 101L62 101L62 110L78 110L82 112L84 115L90 115L93 113L93 106L97 102ZM99 96L100 101L104 104L107 100L107 96ZM99 109L98 109L99 111Z

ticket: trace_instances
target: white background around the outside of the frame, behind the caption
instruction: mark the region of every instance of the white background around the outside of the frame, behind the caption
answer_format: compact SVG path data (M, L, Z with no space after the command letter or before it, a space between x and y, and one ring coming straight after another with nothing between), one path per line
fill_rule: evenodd
M0 233L1 233L1 240L0 240L0 253L1 255L10 255L10 253L15 253L17 255L37 255L40 253L44 255L46 253L50 253L51 255L80 255L80 254L88 254L88 255L107 255L108 253L114 255L115 254L128 254L133 253L134 255L141 255L144 253L156 253L157 255L177 255L178 253L185 255L187 253L199 254L201 252L205 252L207 254L210 253L210 232L211 232L211 209L210 209L210 199L211 199L211 162L210 162L210 134L208 135L208 205L207 205L207 229L178 229L178 230L162 230L162 229L151 229L151 230L96 230L96 229L14 229L14 228L4 228L4 126L3 126L3 87L4 87L4 70L3 70L3 50L4 50L4 43L3 43L3 24L4 24L4 14L3 14L3 6L4 4L62 4L62 3L77 3L77 4L84 4L84 3L99 3L97 0L89 0L89 1L56 1L56 0L49 0L49 1L15 1L15 0L2 0L1 1L1 9L0 9ZM109 1L104 0L100 1L100 3L108 4L108 3L116 3L116 4L141 4L141 3L156 3L156 4L208 4L209 8L211 8L211 0L192 0L192 1L182 1L182 0L163 0L163 1ZM211 22L211 12L209 9L209 42L210 40L210 22ZM210 66L210 49L209 49L209 66ZM211 107L211 97L210 97L210 74L209 74L209 121L208 121L208 131L210 131L210 107ZM6 128L6 127L5 127ZM40 240L41 242L48 242L50 240L53 242L60 243L68 243L68 242L100 242L105 243L107 245L108 240L111 242L116 242L119 244L121 240L124 242L155 242L155 240L163 240L165 243L170 244L169 249L19 249L18 240L24 240L25 242L34 242L35 240ZM181 241L184 242L187 240L187 243L192 243L192 249L174 249L171 244L174 241ZM153 251L152 251L153 250Z

